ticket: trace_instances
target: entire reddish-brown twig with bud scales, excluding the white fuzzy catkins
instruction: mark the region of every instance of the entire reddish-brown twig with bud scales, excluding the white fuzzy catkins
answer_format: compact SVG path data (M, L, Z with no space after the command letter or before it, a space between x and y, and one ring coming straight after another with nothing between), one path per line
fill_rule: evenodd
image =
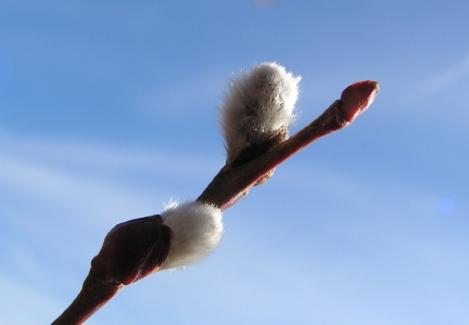
M197 200L225 210L243 197L252 186L263 183L282 161L313 141L352 123L378 94L376 81L347 87L317 119L288 140L279 130L264 144L248 147L225 166ZM284 140L284 141L283 141ZM116 225L105 237L102 249L91 262L81 291L56 318L54 325L83 324L111 300L125 285L156 272L170 249L172 230L160 216L130 220Z

